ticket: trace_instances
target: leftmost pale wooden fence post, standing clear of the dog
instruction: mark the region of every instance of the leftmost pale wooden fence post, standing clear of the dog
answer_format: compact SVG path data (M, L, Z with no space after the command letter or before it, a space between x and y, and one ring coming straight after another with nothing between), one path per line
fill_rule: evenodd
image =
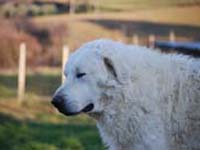
M18 70L18 102L24 100L26 84L26 45L25 43L20 44L19 51L19 70Z

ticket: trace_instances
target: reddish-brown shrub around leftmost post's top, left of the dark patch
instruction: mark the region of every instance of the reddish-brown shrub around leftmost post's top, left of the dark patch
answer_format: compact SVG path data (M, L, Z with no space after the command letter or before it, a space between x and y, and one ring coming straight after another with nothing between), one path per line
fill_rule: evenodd
M27 62L32 64L37 61L37 56L41 52L41 46L31 35L16 29L11 21L1 18L0 26L0 67L16 67L18 64L19 45L25 42L27 45ZM35 60L36 59L36 60Z

